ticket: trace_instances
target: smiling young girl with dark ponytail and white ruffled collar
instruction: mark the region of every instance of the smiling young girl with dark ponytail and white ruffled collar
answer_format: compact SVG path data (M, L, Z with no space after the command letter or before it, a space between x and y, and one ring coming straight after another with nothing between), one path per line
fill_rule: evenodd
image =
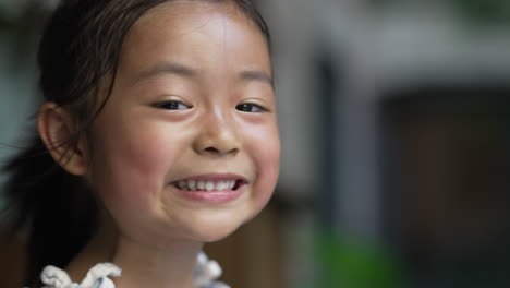
M254 217L278 176L268 46L247 0L63 0L38 55L38 135L5 167L25 285L224 287L203 243Z

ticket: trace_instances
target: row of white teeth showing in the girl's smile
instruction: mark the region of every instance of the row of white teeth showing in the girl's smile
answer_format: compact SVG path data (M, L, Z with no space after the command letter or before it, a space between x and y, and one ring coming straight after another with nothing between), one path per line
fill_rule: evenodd
M172 183L175 188L182 191L235 191L245 183L241 179L229 180L202 180L186 179L179 180Z

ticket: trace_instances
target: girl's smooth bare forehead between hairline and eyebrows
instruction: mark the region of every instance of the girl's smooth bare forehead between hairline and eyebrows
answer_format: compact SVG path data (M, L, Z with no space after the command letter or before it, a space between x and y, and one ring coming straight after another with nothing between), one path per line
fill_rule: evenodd
M212 64L216 60L270 70L265 37L232 1L159 4L133 25L122 50L121 65L175 59L184 64Z

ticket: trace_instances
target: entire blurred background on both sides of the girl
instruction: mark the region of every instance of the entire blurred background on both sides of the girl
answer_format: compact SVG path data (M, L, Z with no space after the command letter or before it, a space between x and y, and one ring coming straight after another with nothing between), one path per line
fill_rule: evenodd
M0 163L39 101L34 56L57 2L0 1ZM281 177L259 217L207 247L224 280L510 287L510 1L256 3L272 31ZM23 241L0 253L9 287Z

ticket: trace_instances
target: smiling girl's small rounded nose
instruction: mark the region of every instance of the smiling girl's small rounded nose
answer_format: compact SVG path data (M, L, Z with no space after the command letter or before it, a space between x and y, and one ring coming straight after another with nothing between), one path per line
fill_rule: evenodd
M202 121L193 148L201 155L235 155L240 149L240 137L233 120L220 112L211 112Z

